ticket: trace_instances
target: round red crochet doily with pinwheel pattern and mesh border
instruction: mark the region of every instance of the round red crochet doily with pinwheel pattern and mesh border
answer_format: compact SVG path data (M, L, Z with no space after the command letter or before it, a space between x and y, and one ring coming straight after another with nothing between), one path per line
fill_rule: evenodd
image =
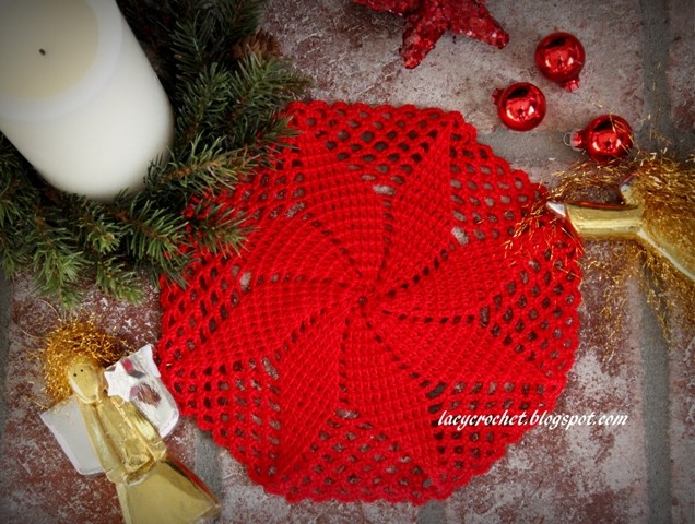
M298 135L226 205L250 228L163 289L158 358L195 416L290 500L441 499L550 410L577 344L579 242L459 114L294 104Z

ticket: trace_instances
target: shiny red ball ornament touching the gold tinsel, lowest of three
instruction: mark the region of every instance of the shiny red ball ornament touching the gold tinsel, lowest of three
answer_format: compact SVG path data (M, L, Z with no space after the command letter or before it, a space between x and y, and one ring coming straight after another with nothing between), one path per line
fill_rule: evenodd
M633 146L633 129L617 115L601 115L570 135L572 146L586 150L599 163L609 163L627 155Z

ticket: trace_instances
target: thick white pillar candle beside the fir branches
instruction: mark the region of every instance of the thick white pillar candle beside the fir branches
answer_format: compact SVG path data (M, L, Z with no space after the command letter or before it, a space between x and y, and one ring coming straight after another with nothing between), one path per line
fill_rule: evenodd
M115 0L0 0L0 131L48 182L141 189L173 120Z

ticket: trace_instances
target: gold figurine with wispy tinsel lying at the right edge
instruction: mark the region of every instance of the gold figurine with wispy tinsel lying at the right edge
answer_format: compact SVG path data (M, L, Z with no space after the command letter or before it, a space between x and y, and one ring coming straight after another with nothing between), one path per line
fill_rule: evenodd
M620 326L629 305L619 286L627 281L639 285L664 341L676 347L674 326L695 322L695 156L679 160L665 151L637 151L620 163L585 162L557 175L530 224L550 210L564 218L555 225L569 226L581 239L620 243L584 253L584 267L598 271L604 283L598 293L606 322L594 327L604 357L624 347Z

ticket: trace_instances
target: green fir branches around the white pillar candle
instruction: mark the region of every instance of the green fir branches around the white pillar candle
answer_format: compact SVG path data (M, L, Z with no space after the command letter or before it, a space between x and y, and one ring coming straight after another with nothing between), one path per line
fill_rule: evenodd
M185 284L196 248L238 250L243 224L215 199L268 165L288 133L282 109L307 87L276 57L234 58L259 31L261 0L119 0L175 112L166 163L137 193L95 202L48 186L0 134L0 266L34 275L66 307L90 285L142 298L142 279Z

